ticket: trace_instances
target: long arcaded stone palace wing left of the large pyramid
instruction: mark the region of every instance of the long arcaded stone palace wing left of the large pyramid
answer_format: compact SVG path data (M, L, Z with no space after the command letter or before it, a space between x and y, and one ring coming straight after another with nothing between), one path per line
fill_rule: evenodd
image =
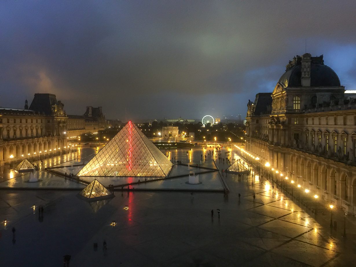
M99 109L99 108L98 108ZM53 94L35 94L28 108L0 108L0 163L68 148L69 137L105 129L105 117L72 116Z

